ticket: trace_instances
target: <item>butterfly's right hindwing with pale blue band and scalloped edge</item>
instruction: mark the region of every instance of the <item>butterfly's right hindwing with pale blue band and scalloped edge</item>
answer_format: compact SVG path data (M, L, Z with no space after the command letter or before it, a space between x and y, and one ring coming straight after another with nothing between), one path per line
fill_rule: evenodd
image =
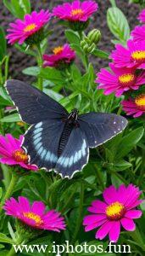
M88 156L89 148L85 133L79 127L74 128L55 169L62 177L72 177L86 165Z

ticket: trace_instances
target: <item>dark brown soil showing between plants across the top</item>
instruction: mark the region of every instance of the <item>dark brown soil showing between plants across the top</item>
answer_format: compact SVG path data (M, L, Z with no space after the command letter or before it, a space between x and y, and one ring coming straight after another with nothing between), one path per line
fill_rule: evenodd
M53 6L56 6L59 3L64 3L67 1L57 1L57 0L43 0L43 1L34 1L31 0L32 8L39 9L53 9ZM90 28L98 28L102 32L102 40L99 44L100 49L105 51L110 51L114 48L114 44L110 43L110 39L113 38L112 34L109 32L109 28L106 22L106 12L110 7L109 0L98 0L98 13L93 15L92 23L90 24ZM129 4L128 0L116 0L118 7L124 12L126 18L129 20L131 29L137 24L137 15L139 13L139 6L137 4ZM9 22L14 20L13 15L11 15L3 6L3 1L0 0L0 25L3 28L8 28ZM49 45L47 52L50 52L53 47L56 45L61 45L65 42L64 40L64 29L62 26L56 26L53 21L51 21L51 29L53 29L53 35L49 39ZM31 67L36 64L35 60L28 55L20 53L18 49L15 49L14 46L8 45L8 54L10 55L10 76L14 79L28 79L21 73L22 69L25 67ZM107 61L100 60L98 58L93 58L92 62L96 68L96 71L100 69L100 67L105 67L107 65ZM30 79L30 78L29 78Z

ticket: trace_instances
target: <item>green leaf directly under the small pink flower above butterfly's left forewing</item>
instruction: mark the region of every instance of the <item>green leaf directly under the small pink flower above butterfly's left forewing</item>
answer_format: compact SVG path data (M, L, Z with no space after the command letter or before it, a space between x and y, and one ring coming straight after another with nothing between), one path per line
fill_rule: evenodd
M41 69L39 74L43 79L52 81L53 83L62 83L64 84L64 78L59 70L53 67L45 67Z

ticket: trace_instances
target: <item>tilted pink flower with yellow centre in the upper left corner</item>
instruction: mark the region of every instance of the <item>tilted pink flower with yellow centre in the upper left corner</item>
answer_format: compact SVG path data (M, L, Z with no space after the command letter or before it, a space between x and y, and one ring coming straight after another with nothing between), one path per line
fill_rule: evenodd
M24 20L15 20L14 23L10 23L10 28L8 28L8 39L9 44L23 44L25 39L30 38L31 35L40 31L47 21L50 19L50 14L48 11L43 9L36 13L33 11L31 15L25 15Z

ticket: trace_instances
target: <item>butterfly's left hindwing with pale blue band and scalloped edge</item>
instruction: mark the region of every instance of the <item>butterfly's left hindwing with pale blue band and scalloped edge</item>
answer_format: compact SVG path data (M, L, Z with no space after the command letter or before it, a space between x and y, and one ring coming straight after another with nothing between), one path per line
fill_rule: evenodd
M59 139L64 130L64 123L60 120L52 122L41 121L25 134L23 147L30 155L30 163L47 170L54 168L58 161Z

